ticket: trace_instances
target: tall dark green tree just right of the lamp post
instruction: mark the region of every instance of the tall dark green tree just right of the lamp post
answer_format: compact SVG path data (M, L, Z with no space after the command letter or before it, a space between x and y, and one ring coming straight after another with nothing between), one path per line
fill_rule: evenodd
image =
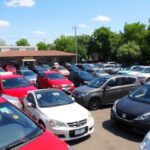
M111 37L113 32L110 28L101 27L94 31L91 36L88 54L97 53L101 61L111 59Z

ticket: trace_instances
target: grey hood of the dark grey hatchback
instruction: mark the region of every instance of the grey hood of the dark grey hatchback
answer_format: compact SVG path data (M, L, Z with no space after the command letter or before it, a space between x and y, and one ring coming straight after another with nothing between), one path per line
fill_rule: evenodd
M87 85L84 85L84 86L80 86L78 88L75 89L75 92L79 92L79 93L90 93L92 91L95 91L96 88L92 88L92 87L89 87Z

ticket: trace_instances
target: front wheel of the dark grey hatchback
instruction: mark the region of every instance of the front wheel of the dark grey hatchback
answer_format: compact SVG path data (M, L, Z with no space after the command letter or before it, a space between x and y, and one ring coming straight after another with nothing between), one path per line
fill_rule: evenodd
M88 108L91 110L96 110L100 107L101 101L99 98L92 98L88 104Z

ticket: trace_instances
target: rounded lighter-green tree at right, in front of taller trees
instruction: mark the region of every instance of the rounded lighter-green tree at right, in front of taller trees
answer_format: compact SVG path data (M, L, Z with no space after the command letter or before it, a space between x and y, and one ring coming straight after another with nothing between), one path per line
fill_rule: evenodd
M140 56L140 47L136 42L128 42L127 44L123 44L117 51L118 60L123 64L131 65L138 61Z

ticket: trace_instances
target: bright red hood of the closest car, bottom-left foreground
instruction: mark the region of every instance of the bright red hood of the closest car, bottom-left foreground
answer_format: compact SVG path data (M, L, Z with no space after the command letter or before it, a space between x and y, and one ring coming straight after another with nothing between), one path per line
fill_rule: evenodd
M67 150L67 144L59 140L55 135L45 131L42 135L37 137L35 140L19 148L19 150Z

